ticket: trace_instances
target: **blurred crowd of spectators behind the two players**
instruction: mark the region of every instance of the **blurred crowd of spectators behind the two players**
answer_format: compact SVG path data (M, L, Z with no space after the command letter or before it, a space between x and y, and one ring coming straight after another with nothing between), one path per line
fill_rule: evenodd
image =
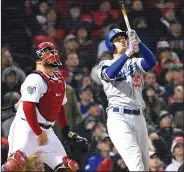
M150 142L150 171L183 168L183 0L124 0L131 27L155 54L157 65L144 76L143 98ZM59 50L66 79L68 121L86 137L90 151L80 171L128 171L106 130L107 100L98 63L112 59L104 42L112 28L126 30L116 0L2 0L1 102L2 163L7 136L20 99L20 86L33 70L39 43ZM54 130L62 141L56 123ZM20 138L21 139L21 138ZM122 145L123 146L123 145ZM52 171L30 157L27 171Z

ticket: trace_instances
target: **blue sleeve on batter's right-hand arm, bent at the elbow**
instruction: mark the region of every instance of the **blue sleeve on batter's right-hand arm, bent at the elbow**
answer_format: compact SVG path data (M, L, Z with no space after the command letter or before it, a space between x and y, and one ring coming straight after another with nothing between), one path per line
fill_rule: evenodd
M156 65L156 59L153 53L143 43L139 44L139 51L143 56L141 61L142 68L147 72Z

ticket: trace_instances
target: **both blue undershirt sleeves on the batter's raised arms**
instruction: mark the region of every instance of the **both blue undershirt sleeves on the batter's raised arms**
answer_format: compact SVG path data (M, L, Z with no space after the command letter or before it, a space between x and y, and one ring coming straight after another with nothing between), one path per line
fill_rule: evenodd
M156 65L156 59L153 53L142 42L139 44L139 51L142 54L142 68L147 72ZM106 75L110 79L114 79L121 71L123 65L128 60L128 56L124 53L111 66L107 67Z

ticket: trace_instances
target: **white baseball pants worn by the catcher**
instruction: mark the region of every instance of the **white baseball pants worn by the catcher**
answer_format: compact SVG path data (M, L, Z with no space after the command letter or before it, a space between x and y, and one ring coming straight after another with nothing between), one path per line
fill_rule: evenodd
M27 121L16 116L13 121L10 134L8 136L10 156L17 150L22 151L27 157L37 154L42 162L54 169L62 163L62 158L66 156L63 145L55 135L52 128L43 129L47 133L47 145L39 146L35 133L30 128Z

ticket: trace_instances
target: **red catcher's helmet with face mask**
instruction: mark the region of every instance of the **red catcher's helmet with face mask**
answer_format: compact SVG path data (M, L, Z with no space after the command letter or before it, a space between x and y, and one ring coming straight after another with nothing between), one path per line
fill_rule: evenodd
M42 42L38 45L36 54L38 58L44 60L47 64L54 66L62 65L56 47L51 42Z

